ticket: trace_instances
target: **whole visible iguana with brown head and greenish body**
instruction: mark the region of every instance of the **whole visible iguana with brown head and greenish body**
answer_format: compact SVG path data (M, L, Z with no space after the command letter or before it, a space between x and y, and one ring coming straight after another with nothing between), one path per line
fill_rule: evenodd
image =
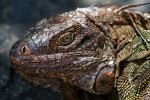
M12 46L13 67L64 100L148 100L150 20L130 7L93 5L43 19Z

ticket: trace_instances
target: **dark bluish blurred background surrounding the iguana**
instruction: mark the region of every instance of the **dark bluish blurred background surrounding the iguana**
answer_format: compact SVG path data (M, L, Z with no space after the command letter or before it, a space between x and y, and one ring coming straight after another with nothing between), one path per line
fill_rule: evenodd
M0 0L0 100L59 100L59 94L35 87L11 67L11 46L37 21L91 4L137 4L149 0ZM146 7L140 8L146 11Z

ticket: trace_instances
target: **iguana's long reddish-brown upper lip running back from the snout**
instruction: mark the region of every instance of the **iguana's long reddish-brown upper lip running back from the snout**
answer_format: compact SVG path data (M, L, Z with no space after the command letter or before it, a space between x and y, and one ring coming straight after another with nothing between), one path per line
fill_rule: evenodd
M12 50L10 53L10 59L12 63L26 62L26 63L40 63L40 62L62 62L61 60L69 57L78 58L80 60L100 60L100 57L95 57L95 51L87 52L69 52L69 53L57 53L57 54L44 54L44 55L19 55L16 50ZM69 59L68 59L69 60Z

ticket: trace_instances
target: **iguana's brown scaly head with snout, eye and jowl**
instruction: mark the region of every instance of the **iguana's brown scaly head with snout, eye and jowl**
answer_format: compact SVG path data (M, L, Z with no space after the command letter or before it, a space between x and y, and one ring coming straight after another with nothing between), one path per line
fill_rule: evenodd
M10 59L29 81L50 85L49 79L60 79L97 94L112 89L111 40L80 10L44 19L27 33L12 46Z

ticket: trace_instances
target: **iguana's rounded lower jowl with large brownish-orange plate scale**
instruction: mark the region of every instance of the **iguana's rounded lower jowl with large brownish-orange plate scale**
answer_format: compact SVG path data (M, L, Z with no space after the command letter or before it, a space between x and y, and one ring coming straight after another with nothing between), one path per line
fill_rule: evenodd
M91 72L77 80L81 89L98 95L112 91L114 82L115 65L113 61L99 63Z

